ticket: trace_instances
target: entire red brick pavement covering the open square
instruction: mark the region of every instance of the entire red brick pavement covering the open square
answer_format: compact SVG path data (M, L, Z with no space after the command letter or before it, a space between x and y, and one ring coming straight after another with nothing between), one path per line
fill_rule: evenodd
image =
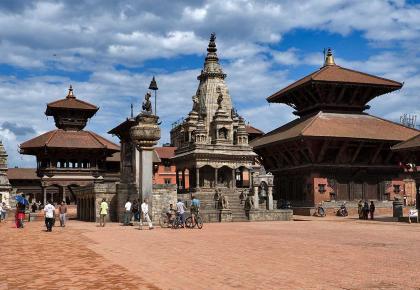
M44 255L50 253L51 283L62 289L420 289L420 225L303 219L152 231L70 221L52 233L36 223L23 231L0 225L0 245L6 240L7 249L16 249L12 237L28 240L18 242L27 255L19 268L31 269L23 283L36 277L34 288L48 280ZM9 270L0 278L10 289L19 285L9 277L16 259L22 260L16 253L1 258Z

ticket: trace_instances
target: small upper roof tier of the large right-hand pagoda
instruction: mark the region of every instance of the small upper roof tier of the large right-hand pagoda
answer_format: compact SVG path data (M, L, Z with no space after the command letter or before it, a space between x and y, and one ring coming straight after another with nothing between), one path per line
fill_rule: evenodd
M284 103L304 116L320 110L363 112L377 96L402 87L402 83L343 68L334 62L328 50L324 66L267 98L270 103Z

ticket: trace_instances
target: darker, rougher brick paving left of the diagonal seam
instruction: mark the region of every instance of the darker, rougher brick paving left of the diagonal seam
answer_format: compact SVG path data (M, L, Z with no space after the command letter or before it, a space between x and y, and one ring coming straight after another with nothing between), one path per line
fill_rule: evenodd
M69 226L47 233L42 222L24 229L1 223L0 289L157 289L88 249L94 242L83 232Z

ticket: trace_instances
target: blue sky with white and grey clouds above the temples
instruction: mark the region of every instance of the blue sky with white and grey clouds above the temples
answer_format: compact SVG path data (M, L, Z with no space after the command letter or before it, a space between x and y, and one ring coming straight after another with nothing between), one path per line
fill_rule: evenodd
M161 142L191 109L211 32L238 112L264 131L294 118L265 98L318 69L331 47L338 65L404 82L371 102L371 114L420 115L417 1L1 1L0 139L9 166L35 166L18 145L54 122L46 103L75 95L100 107L87 129L106 134L136 112L153 75ZM419 120L420 121L420 120Z

